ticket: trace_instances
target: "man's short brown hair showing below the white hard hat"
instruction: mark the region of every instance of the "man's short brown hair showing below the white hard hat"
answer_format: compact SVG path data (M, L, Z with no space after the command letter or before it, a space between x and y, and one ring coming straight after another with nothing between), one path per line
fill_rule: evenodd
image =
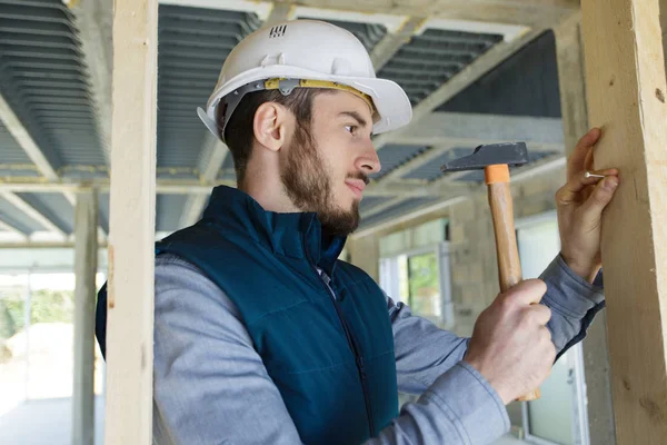
M297 118L297 122L307 135L310 135L310 123L312 120L312 101L315 97L323 91L320 88L295 88L295 90L283 96L278 90L265 90L247 93L229 119L225 129L223 139L231 152L233 166L237 175L237 182L241 182L246 176L248 160L252 154L252 142L255 132L252 131L252 121L257 109L265 102L280 103L290 110ZM222 117L225 107L218 107L216 111L216 122L218 131L221 132Z

